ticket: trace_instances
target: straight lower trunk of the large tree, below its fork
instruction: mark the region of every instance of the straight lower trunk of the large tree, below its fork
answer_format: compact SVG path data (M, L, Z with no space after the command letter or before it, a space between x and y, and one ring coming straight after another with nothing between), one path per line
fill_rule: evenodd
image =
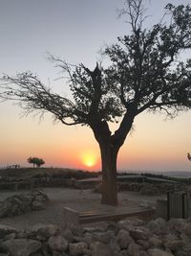
M117 205L117 150L112 145L99 145L102 163L101 203Z

